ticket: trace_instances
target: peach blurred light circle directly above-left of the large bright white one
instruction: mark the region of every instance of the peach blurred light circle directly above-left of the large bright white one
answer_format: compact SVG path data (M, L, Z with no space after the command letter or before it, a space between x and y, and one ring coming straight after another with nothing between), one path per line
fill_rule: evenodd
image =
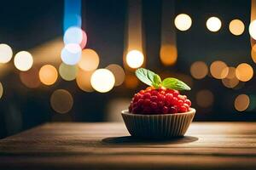
M96 51L86 48L82 51L81 59L79 60L79 68L84 71L94 71L98 67L100 58Z

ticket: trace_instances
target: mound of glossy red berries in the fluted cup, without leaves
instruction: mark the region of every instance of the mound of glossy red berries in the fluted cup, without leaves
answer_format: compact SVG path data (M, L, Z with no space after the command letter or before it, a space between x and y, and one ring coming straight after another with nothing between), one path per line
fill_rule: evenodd
M148 87L135 94L129 106L134 114L172 114L189 111L191 102L177 90Z

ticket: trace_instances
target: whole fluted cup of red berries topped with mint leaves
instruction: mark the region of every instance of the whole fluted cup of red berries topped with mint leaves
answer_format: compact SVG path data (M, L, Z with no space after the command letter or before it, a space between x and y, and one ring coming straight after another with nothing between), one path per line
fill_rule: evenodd
M129 109L121 113L131 136L182 137L195 116L191 101L180 93L190 90L189 86L173 77L161 81L159 75L143 68L137 69L136 76L149 87L135 94Z

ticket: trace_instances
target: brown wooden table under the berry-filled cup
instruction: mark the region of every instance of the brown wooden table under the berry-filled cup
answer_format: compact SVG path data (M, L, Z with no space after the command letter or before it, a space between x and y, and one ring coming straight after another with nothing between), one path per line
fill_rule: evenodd
M256 122L193 122L132 139L123 123L48 123L0 140L0 169L256 169Z

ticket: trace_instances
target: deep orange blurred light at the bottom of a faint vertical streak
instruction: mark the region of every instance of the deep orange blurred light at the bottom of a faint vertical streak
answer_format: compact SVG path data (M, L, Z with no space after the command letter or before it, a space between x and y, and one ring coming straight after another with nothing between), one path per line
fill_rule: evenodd
M160 60L164 65L174 65L177 61L177 48L174 45L163 45L160 48Z

